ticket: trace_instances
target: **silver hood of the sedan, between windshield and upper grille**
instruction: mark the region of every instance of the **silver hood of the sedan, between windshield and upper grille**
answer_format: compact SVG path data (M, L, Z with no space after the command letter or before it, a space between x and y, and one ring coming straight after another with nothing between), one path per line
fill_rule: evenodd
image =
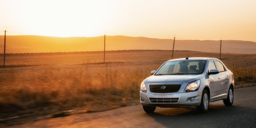
M145 83L164 82L192 82L202 78L203 75L152 75L144 80Z

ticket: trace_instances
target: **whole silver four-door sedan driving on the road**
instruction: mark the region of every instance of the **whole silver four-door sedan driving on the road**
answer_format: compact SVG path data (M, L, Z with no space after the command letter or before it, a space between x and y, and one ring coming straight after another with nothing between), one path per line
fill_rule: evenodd
M147 113L153 113L156 106L196 106L206 113L210 102L233 104L233 73L219 59L173 59L151 74L140 85L140 103Z

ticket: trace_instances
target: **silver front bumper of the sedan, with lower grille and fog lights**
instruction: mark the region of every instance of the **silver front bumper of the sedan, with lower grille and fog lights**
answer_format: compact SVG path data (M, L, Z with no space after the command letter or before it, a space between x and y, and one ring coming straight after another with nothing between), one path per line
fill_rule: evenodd
M199 106L201 103L202 92L181 93L145 93L140 91L140 103L143 106L158 107L187 107ZM195 101L189 101L189 98L195 98Z

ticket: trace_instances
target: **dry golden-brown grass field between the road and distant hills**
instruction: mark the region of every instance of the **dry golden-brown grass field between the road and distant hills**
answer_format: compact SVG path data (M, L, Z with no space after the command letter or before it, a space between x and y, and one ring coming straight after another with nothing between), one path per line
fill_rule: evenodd
M7 54L6 66L1 54L0 124L139 104L140 83L171 54L107 51L105 63L103 52ZM188 54L174 51L173 57ZM189 57L219 58L219 54L190 52ZM234 73L236 88L256 82L256 55L222 54L221 60Z

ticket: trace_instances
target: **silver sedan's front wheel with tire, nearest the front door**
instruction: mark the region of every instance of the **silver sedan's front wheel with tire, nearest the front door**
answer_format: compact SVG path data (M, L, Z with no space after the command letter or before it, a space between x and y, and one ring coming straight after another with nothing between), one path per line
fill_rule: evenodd
M207 113L209 110L209 94L206 90L203 90L201 104L197 106L196 109L199 113Z

